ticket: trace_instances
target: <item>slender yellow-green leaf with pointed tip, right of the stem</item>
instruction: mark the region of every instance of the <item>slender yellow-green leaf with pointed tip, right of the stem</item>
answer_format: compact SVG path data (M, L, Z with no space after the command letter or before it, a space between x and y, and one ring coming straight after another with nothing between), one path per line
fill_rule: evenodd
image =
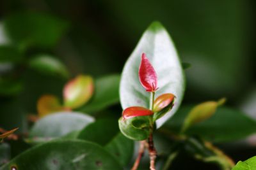
M203 122L211 117L215 113L217 107L223 103L225 103L225 99L220 99L220 101L207 101L195 106L184 120L181 132L185 132L191 125Z

